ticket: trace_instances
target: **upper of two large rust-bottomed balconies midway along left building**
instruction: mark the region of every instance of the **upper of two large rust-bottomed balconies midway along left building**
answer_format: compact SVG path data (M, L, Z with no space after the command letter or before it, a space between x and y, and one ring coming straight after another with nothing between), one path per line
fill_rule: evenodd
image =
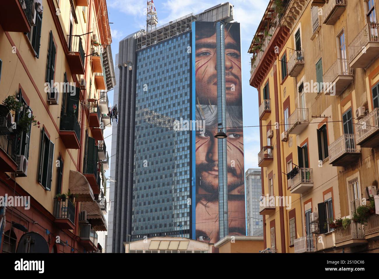
M81 37L78 35L67 35L67 46L69 53L67 61L72 74L84 74L84 60L85 54Z

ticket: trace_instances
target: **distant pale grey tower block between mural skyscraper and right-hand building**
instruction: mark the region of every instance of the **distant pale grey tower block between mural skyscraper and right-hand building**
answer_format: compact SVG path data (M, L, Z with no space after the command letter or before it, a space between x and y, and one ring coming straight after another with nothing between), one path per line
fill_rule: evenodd
M246 229L247 235L262 234L263 218L259 214L259 202L262 197L262 178L260 169L246 171Z

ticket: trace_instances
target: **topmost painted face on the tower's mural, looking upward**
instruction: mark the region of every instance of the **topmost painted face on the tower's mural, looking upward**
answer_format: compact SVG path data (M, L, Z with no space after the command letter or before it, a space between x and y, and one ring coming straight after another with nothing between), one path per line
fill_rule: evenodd
M217 104L216 33L196 40L196 103ZM228 106L241 102L240 45L225 30L225 87Z

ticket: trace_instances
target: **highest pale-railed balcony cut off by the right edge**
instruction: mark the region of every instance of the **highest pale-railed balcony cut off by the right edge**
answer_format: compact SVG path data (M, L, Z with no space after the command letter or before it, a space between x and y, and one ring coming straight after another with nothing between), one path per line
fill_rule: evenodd
M349 44L351 68L366 68L379 55L379 23L366 24Z

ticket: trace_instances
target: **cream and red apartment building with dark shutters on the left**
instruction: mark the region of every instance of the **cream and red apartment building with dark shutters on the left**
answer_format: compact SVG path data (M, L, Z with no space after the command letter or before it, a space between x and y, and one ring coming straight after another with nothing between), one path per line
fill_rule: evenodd
M0 13L0 252L96 252L115 84L106 1Z

